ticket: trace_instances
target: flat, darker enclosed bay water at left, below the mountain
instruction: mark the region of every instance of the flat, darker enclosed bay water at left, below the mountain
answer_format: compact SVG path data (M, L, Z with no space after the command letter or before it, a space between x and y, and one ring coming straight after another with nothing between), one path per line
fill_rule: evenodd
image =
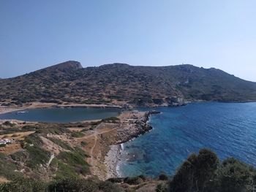
M53 107L9 112L1 114L0 119L65 123L114 117L119 112L120 110L118 108Z

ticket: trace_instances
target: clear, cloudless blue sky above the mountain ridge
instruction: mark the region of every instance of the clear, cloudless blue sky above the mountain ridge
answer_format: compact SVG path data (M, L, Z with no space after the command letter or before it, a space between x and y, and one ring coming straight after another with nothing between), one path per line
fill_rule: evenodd
M256 82L255 0L1 0L0 77L62 61L215 67Z

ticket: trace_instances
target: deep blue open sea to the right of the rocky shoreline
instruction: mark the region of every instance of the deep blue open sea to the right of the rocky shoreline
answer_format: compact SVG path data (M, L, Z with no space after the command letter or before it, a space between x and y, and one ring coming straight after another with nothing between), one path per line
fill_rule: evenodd
M154 129L122 145L121 176L174 174L189 153L202 147L221 159L233 156L256 166L256 103L198 103L157 108Z

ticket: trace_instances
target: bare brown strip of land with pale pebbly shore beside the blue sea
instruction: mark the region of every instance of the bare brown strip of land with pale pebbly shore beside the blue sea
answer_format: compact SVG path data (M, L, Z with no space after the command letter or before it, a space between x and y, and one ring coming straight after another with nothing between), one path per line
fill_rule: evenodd
M122 112L115 123L102 122L90 135L78 139L87 143L84 149L89 151L90 158L86 161L91 164L91 173L101 180L120 177L116 169L121 160L121 144L150 131L148 118L152 113Z

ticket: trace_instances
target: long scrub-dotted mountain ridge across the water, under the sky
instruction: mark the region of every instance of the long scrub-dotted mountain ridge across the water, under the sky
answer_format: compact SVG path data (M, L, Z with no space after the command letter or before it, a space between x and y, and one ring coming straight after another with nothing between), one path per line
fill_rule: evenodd
M256 101L256 82L187 64L83 68L78 61L0 80L1 104L42 101L153 106L198 100Z

